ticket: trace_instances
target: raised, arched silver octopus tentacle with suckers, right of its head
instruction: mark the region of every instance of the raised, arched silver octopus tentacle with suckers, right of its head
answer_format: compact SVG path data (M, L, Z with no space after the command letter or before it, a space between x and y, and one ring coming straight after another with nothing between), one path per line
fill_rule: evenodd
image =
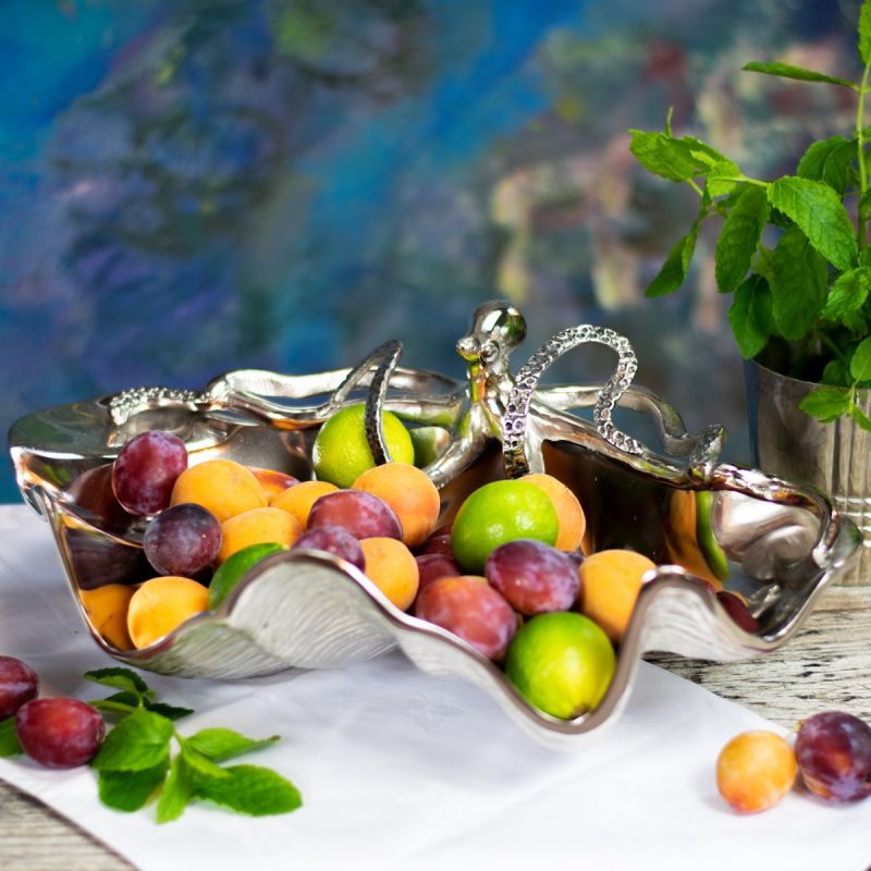
M629 454L643 453L640 442L618 430L611 415L617 401L631 383L638 361L629 340L604 327L582 323L556 333L545 342L520 369L514 388L508 394L502 424L502 446L505 474L510 478L525 475L529 470L527 456L527 424L532 394L544 371L563 354L582 344L605 345L617 353L617 366L608 383L602 388L593 408L593 421L599 434Z

